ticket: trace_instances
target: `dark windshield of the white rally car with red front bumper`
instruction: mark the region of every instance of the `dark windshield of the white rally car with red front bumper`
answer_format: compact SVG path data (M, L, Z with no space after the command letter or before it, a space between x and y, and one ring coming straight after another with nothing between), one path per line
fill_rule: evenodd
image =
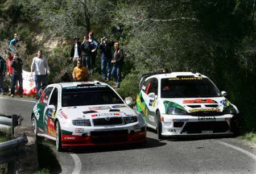
M120 97L106 85L75 86L63 88L62 106L87 106L123 103Z

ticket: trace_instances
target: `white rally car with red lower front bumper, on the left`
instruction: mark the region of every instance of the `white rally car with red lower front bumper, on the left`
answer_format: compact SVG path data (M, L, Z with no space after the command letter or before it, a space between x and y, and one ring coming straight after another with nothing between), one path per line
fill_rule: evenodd
M146 141L145 122L102 82L51 84L31 114L37 136L63 148Z

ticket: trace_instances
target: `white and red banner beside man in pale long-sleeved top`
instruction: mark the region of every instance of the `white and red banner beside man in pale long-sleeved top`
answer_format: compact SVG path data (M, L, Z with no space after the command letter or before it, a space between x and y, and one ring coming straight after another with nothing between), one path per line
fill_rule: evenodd
M36 96L36 86L34 74L31 76L31 72L22 71L23 78L23 95Z

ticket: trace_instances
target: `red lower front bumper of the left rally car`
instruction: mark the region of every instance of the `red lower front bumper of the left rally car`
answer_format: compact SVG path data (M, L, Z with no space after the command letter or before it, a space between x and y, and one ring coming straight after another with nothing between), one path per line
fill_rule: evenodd
M143 143L146 141L146 130L132 134L119 134L109 136L80 136L62 134L63 148L78 148L88 146L108 146L118 144Z

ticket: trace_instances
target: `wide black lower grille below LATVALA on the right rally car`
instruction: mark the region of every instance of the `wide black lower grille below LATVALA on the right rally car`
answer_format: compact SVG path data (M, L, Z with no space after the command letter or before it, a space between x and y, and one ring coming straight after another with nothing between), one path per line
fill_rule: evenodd
M213 133L221 133L229 130L227 122L187 122L182 133L201 134L202 131L213 131Z

